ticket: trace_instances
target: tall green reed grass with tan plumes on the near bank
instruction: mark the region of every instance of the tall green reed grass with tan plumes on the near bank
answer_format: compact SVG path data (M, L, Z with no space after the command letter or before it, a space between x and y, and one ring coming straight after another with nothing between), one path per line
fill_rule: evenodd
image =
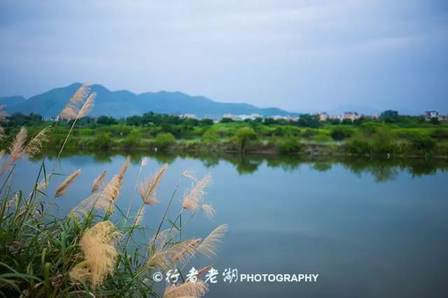
M93 97L88 94L88 85L80 90L64 106L61 119L79 119L92 108ZM55 122L57 125L58 122ZM70 137L76 121L66 136ZM155 194L167 165L146 180L142 188L142 208L134 215L124 215L116 201L120 199L120 188L125 180L130 159L127 158L120 171L109 180L106 170L92 185L92 193L64 218L55 218L46 212L49 206L64 199L70 192L80 170L75 171L57 188L57 196L47 194L48 185L54 176L57 162L64 150L59 150L55 165L48 171L43 157L36 179L29 194L11 189L10 183L15 163L24 156L35 155L42 148L47 131L43 131L27 142L27 130L20 129L3 162L0 176L0 296L2 297L202 297L208 291L207 284L186 281L167 286L165 292L153 289L152 274L155 270L175 269L202 253L207 257L215 255L216 246L227 230L226 225L216 228L204 241L199 238L180 240L182 229L194 218L198 208L179 227L177 219L167 220L167 211L184 178L197 182L192 186L193 194L187 192L184 198L193 198L195 207L202 204L204 187L210 177L197 180L182 174L176 185L157 232L148 244L142 247L134 242L136 231L145 231L141 225L144 213L151 208L145 199ZM32 150L27 150L32 146ZM3 155L3 151L1 153ZM146 166L148 159L142 160ZM142 166L143 168L143 166ZM205 179L205 180L204 180ZM206 181L207 183L200 183ZM190 191L190 192L191 192ZM57 199L55 198L57 197ZM153 203L153 201L151 201ZM155 201L154 201L155 203ZM149 205L149 206L148 206ZM185 208L181 207L181 213ZM193 210L194 209L194 210ZM207 209L207 208L206 208ZM180 213L179 213L180 214ZM118 216L115 216L118 215ZM120 218L121 215L121 218ZM120 220L113 219L120 218ZM160 232L165 220L169 228ZM152 230L154 231L154 230ZM126 239L126 241L123 241ZM209 267L204 267L207 269Z

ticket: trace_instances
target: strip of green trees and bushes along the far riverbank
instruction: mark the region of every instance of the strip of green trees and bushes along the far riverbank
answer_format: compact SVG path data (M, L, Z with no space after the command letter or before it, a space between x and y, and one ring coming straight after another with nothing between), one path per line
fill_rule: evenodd
M3 148L25 125L32 132L52 125L39 115L15 114L2 122ZM52 128L48 146L61 146L73 121ZM395 111L379 119L319 121L302 115L297 121L258 118L235 121L223 118L180 118L145 113L125 119L101 116L78 120L68 148L101 150L169 150L176 152L280 152L313 155L448 156L448 123L402 116Z

